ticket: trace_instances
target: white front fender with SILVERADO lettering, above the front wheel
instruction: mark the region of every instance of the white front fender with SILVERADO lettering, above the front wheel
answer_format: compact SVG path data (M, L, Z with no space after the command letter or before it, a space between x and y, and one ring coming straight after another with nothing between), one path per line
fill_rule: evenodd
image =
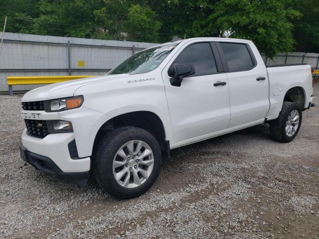
M163 123L166 140L172 142L167 101L160 72L161 69L158 68L145 74L88 84L77 89L74 95L83 95L82 106L106 115L105 119L130 112L153 112ZM97 130L90 133L95 136L105 122L106 120L99 121L95 127Z

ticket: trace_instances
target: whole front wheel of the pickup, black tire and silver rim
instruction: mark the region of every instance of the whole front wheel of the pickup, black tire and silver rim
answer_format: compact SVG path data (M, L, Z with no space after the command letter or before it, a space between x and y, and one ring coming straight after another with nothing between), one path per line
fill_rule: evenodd
M158 141L148 131L120 127L106 134L92 157L93 175L111 196L132 198L156 181L161 165Z

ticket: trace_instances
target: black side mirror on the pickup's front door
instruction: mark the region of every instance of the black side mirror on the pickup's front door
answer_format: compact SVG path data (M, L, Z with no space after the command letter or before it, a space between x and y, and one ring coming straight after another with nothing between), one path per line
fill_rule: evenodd
M175 63L169 68L168 75L171 77L169 82L172 86L180 87L184 77L195 74L193 63Z

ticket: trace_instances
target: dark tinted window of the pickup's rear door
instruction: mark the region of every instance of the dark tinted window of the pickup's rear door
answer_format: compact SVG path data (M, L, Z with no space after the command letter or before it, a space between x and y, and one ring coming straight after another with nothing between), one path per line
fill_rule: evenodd
M246 71L254 64L245 44L220 43L228 63L229 71Z

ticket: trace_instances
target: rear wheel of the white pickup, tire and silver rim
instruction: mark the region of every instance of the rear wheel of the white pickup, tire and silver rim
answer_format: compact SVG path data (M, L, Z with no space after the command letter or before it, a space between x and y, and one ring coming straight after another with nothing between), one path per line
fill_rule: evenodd
M269 122L271 137L280 142L292 141L300 129L302 118L298 104L284 102L278 118Z

